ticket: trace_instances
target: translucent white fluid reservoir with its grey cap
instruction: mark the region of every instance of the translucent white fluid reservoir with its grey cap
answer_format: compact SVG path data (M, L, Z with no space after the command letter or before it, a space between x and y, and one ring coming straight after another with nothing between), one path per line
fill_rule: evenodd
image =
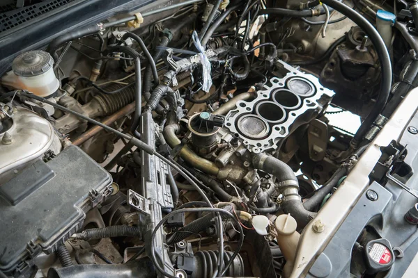
M52 66L54 59L42 50L20 54L13 60L12 71L6 73L1 83L12 89L29 90L40 97L49 97L59 88Z

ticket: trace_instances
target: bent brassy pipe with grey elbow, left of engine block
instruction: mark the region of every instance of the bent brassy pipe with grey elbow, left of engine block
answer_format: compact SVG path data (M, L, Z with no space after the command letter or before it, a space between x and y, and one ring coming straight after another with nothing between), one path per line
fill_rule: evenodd
M164 138L167 140L167 143L172 148L181 144L180 139L178 139L176 136L176 133L179 129L180 126L178 124L169 124L168 126L164 127ZM187 163L189 163L190 165L193 165L197 169L208 174L217 176L219 172L219 167L217 167L215 163L213 163L212 161L208 161L205 158L201 158L187 146L183 146L180 149L180 157L187 161Z

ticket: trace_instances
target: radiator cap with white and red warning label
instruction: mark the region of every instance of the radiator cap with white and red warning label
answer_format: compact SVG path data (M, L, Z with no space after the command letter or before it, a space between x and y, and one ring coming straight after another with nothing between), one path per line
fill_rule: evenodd
M388 270L394 264L395 255L389 240L386 238L369 241L364 248L364 252L366 253L367 272L369 274Z

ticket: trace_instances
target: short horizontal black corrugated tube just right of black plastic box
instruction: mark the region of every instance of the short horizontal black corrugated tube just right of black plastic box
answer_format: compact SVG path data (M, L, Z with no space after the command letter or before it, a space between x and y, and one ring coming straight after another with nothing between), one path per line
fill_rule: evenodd
M88 241L92 239L114 238L118 236L135 236L141 238L141 231L138 227L118 225L97 229L86 229L82 231L82 233L75 234L74 238Z

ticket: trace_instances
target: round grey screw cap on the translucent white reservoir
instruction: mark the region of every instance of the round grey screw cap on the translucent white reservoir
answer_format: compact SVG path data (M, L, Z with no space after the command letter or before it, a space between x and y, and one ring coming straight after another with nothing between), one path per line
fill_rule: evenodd
M20 54L13 60L12 70L18 76L37 76L47 72L54 65L54 59L42 50Z

